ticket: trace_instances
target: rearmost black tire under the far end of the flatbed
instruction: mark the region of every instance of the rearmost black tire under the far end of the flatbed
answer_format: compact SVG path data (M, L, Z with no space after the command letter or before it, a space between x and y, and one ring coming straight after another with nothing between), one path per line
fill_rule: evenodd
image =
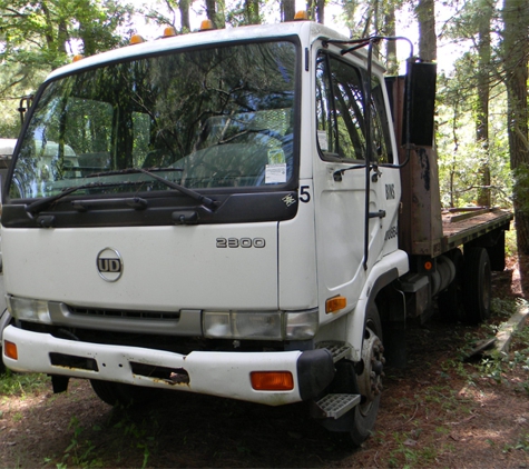
M464 249L464 320L478 323L490 316L491 267L484 248Z

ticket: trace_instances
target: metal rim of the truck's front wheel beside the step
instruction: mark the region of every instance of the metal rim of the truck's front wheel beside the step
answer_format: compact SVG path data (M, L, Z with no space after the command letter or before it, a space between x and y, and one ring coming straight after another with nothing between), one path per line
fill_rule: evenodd
M365 417L374 400L382 392L382 378L384 359L384 347L376 333L369 327L365 327L365 337L362 346L362 360L364 370L359 377L359 387L361 395L365 400L359 405L360 412Z

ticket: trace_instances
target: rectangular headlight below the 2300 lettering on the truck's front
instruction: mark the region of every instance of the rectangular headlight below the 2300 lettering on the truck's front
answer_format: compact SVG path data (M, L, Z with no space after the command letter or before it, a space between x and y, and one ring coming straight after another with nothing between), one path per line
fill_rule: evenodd
M210 339L305 340L317 330L317 309L301 312L205 311Z

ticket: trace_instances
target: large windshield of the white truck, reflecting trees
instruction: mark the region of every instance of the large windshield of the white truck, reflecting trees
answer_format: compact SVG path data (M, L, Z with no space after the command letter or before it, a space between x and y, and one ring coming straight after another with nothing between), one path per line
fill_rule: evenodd
M177 51L55 80L23 134L9 196L79 186L88 187L80 194L172 190L123 171L133 168L197 190L283 187L293 173L295 64L295 46L276 41Z

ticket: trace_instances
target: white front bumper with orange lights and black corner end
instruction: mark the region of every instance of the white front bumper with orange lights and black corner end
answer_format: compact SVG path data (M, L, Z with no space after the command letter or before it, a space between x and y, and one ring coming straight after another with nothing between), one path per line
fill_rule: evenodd
M334 377L332 355L326 349L282 352L193 351L179 355L140 347L109 346L56 338L9 326L3 340L17 346L17 360L3 356L13 371L42 372L76 378L116 381L150 388L213 395L270 406L315 398ZM6 346L3 347L6 350ZM53 363L52 356L77 357L94 363L92 369ZM173 382L134 372L135 363L185 372L188 382ZM290 371L294 388L259 391L252 388L253 371Z

